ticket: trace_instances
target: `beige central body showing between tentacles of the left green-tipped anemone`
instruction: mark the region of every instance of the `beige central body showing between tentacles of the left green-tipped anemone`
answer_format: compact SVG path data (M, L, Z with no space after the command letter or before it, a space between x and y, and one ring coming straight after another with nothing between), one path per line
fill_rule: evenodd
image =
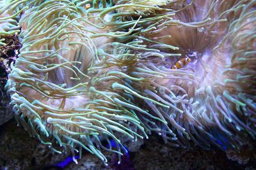
M31 25L28 25L28 22L26 22L29 17L29 15L35 15L33 14L33 11L27 10L24 13L24 16L22 17L22 20L20 20L20 26L22 27L22 32L26 32L28 28L31 28ZM65 15L65 13L63 14ZM80 17L85 17L81 15ZM49 13L49 15L46 17L44 16L45 20L54 20L55 16ZM60 24L65 20L65 18L62 18ZM99 21L90 20L94 24L100 24ZM56 28L60 26L60 24L56 24ZM45 27L51 27L52 23L49 23L48 25L45 24ZM83 22L81 24L81 27L86 27L88 30L92 30L93 32L97 32L99 34L102 33L108 33L108 30L111 29L111 26L105 27L104 29L98 29L96 27L93 27L90 24L86 24ZM45 30L44 30L45 31ZM44 32L41 31L41 32ZM67 25L64 29L61 30L61 32L72 32L77 31L77 27L75 25L70 24ZM88 31L81 31L79 30L79 34L84 34L86 37L90 38L93 33ZM41 32L33 32L33 34L40 34ZM52 32L49 32L48 34L42 34L42 36L35 36L34 38L29 39L29 42L37 41L38 39L44 39L45 37L48 37ZM62 85L63 88L72 88L76 86L79 83L88 83L94 76L99 77L98 75L103 75L106 73L106 70L97 70L97 71L88 71L92 64L93 55L97 52L97 49L106 50L111 45L111 38L105 38L105 37L99 37L99 38L92 38L92 39L86 39L84 41L84 37L80 36L76 33L67 33L66 35L59 36L60 39L64 39L63 41L58 41L58 43L54 43L54 39L45 40L40 43L36 43L33 46L28 46L25 48L22 48L20 57L26 56L22 54L22 52L26 51L38 51L38 50L52 50L52 52L56 52L56 50L67 48L64 50L60 50L58 52L58 55L61 56L61 58L53 58L49 60L43 60L42 58L45 57L45 53L33 53L33 57L36 57L36 61L34 61L36 64L40 64L42 66L46 64L62 64L63 62L67 62L67 64L63 66L67 66L69 68L72 68L72 66L76 66L77 69L79 69L79 72L76 69L67 69L67 67L57 67L56 69L52 69L51 71L45 71L45 73L39 73L36 72L36 69L28 68L28 63L22 64L22 61L19 59L17 60L17 68L22 69L23 71L26 71L26 69L29 69L32 73L35 74L41 74L41 76L44 76L44 81L47 81L49 83L54 83L56 85ZM67 38L70 37L70 38ZM74 45L70 45L70 43L74 42ZM82 45L83 44L83 45ZM46 46L44 46L46 45ZM72 64L71 62L68 63L68 61L74 61L76 63ZM100 60L96 60L94 64L100 64ZM93 72L93 73L92 73ZM83 74L81 74L83 73ZM88 75L86 75L88 74ZM11 77L12 78L12 77ZM21 83L21 82L20 82ZM89 91L88 85L83 85L77 90L81 90L84 92ZM109 87L109 85L106 85L106 87ZM46 85L42 85L42 89L47 89ZM56 99L51 99L47 96L42 96L40 92L31 89L31 87L22 87L19 89L19 91L24 94L24 96L27 96L29 102L33 102L35 100L40 101L43 104L46 104L47 106L51 106L52 108L61 108L61 110L73 110L74 108L84 108L86 103L88 101L91 101L90 96L88 94L77 94L74 96L70 96L67 98L63 97L56 97ZM51 93L51 91L49 91ZM48 115L42 114L42 118L45 118L47 120Z

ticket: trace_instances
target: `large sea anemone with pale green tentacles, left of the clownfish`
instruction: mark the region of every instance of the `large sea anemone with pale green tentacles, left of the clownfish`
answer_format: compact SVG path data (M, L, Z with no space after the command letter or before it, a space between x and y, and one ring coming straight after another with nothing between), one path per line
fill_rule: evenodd
M55 152L61 153L52 147L52 138L64 150L70 149L75 162L75 152L81 153L82 148L105 164L102 149L122 155L126 150L116 133L135 141L147 138L135 112L155 117L136 107L130 101L131 94L112 89L111 85L123 83L125 78L143 80L122 70L139 58L127 50L139 45L124 41L150 29L144 28L143 22L156 23L169 15L151 13L143 18L133 13L136 20L122 21L131 13L114 12L126 6L161 10L140 1L115 6L106 1L22 1L15 6L19 13L23 11L19 20L22 48L6 88L17 122ZM30 8L20 10L24 6ZM102 144L111 139L116 150Z

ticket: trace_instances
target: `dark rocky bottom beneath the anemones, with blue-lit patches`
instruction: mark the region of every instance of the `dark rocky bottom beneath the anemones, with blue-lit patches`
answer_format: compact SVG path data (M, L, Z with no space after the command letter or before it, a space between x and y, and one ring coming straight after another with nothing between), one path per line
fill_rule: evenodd
M72 162L70 154L52 154L52 150L31 138L14 119L0 127L0 169L256 169L256 152L244 148L243 152L223 152L173 148L163 143L157 135L145 141L127 143L129 153L117 164L115 154L103 152L109 166L104 166L95 155L86 151L78 164ZM227 157L228 155L228 157ZM229 159L228 159L229 158Z

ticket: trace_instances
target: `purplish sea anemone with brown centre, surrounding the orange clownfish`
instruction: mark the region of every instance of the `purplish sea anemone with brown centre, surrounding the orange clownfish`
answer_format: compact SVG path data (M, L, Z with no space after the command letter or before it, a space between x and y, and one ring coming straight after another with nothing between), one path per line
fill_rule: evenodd
M148 124L167 143L237 149L248 135L255 138L255 2L170 3L164 8L175 10L174 20L140 35L159 52L140 52L130 75L150 81L131 86L169 106L140 102L141 108L169 122L170 128ZM163 15L168 13L173 12ZM186 58L190 62L182 63ZM181 62L179 69L171 69L175 62Z

